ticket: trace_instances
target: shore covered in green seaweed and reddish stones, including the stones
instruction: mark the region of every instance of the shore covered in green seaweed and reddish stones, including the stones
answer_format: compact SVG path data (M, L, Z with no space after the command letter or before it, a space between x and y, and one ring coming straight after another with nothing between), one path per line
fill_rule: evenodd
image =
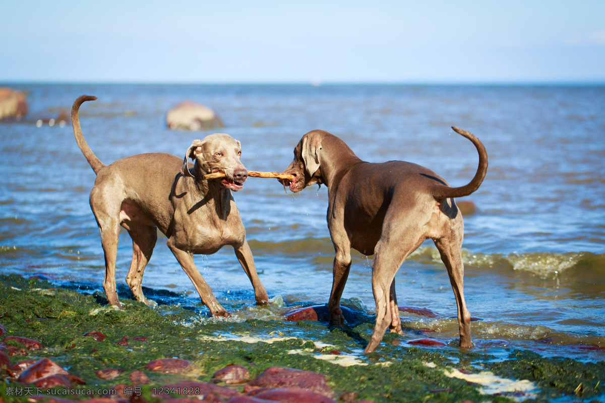
M603 361L527 350L497 359L449 346L410 346L394 334L362 355L372 318L336 329L308 320L215 320L130 300L123 308L45 280L0 276L0 400L589 402L604 396ZM54 368L49 361L58 368L54 383L23 375L35 372L33 366Z

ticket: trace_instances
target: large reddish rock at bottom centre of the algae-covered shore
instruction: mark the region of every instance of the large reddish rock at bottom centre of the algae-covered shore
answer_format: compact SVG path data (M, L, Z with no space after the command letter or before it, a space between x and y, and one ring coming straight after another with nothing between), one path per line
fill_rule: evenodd
M321 373L292 368L269 367L244 387L244 392L252 392L262 387L299 388L333 398L335 393L326 383Z

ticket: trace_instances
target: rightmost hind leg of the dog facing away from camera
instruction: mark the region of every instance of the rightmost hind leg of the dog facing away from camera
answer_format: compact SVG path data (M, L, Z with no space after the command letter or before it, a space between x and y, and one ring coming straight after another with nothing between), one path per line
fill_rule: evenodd
M450 231L448 236L435 240L435 246L441 254L441 260L448 269L450 283L458 307L458 327L460 329L460 347L473 347L471 342L471 314L464 300L464 265L462 263L462 229Z

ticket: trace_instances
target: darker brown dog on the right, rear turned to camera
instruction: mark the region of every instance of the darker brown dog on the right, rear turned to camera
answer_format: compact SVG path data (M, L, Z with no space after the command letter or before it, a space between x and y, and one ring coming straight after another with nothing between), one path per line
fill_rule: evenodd
M327 222L336 256L330 294L330 323L344 325L340 299L351 267L350 249L372 260L376 326L365 352L373 352L387 328L402 334L394 277L405 258L426 239L433 239L450 275L458 306L460 347L472 347L471 315L463 292L462 214L453 198L468 196L483 182L488 167L485 147L474 135L453 127L473 142L479 169L462 187L450 187L433 171L404 161L361 161L338 137L321 130L304 135L282 179L292 192L319 183L328 187Z

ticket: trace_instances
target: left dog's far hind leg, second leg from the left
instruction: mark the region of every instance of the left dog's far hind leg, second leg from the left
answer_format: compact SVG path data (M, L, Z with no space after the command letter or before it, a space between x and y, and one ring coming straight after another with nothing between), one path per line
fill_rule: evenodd
M126 275L126 283L128 283L130 291L132 291L137 301L149 306L156 306L157 304L154 301L148 300L143 295L142 283L143 272L147 263L149 263L149 259L151 259L157 241L157 229L136 222L125 223L123 227L127 227L126 229L132 238L132 263L128 275Z

